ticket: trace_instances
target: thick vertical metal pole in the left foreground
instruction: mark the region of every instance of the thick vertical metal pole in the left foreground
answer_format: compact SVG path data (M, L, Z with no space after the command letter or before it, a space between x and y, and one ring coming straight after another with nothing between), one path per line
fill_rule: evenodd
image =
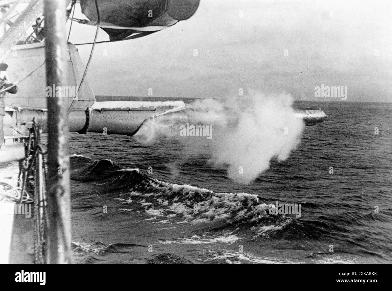
M44 1L46 85L66 86L65 1ZM62 90L60 90L62 91ZM44 94L44 93L43 93ZM47 262L71 263L67 98L48 97Z

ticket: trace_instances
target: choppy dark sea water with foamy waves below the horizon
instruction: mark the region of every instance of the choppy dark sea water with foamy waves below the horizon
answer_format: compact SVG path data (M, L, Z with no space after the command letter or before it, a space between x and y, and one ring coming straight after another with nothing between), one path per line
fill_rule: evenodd
M249 185L170 138L71 134L76 262L391 262L392 104L295 106L328 119Z

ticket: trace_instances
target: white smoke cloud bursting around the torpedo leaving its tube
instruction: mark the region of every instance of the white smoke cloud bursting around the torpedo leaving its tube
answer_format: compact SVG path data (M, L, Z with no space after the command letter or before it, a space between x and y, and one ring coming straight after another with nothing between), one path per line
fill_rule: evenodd
M180 128L187 123L212 126L214 134L210 140L181 136ZM181 113L147 122L138 137L144 142L175 138L187 147L190 157L207 152L215 167L227 167L230 179L247 184L267 170L273 158L289 157L303 127L290 95L252 92L251 97L195 101Z

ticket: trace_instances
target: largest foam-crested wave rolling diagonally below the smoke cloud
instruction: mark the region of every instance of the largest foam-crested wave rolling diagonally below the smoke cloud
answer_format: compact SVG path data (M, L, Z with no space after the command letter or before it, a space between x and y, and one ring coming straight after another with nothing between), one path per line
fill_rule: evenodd
M110 160L96 162L86 157L74 156L71 157L71 163L76 165L72 171L74 180L99 180L95 185L100 192L109 195L114 192L113 195L117 196L113 199L124 205L120 211L129 213L135 209L137 203L148 216L141 221L200 226L218 223L218 227L233 228L241 225L254 232L253 239L319 237L329 228L323 221L269 214L270 208L274 206L261 203L255 194L213 192L192 185L167 183L148 178L138 169L123 169ZM132 207L127 208L125 205Z

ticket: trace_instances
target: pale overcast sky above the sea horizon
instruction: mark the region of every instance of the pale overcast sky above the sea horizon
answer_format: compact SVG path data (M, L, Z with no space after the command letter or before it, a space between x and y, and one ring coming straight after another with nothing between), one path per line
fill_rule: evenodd
M155 97L228 97L243 88L341 100L315 97L324 84L347 86L347 101L392 102L390 2L201 0L171 28L96 45L87 78L96 95L147 96L152 88ZM74 24L70 41L94 33ZM108 39L101 30L98 41ZM87 63L91 45L78 48Z

